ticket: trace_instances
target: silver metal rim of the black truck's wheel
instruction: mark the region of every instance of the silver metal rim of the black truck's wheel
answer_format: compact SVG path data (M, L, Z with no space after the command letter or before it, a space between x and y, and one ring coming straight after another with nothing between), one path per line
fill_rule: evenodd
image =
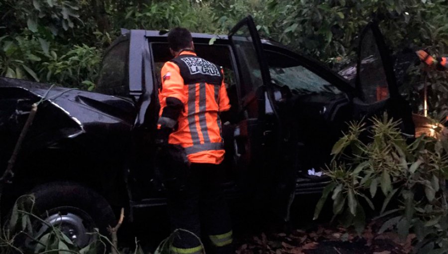
M58 228L66 235L73 244L83 248L96 239L94 235L88 234L94 232L95 223L86 212L75 207L58 207L48 210L42 216L51 226ZM49 226L41 224L37 231L37 238L42 237L48 232Z

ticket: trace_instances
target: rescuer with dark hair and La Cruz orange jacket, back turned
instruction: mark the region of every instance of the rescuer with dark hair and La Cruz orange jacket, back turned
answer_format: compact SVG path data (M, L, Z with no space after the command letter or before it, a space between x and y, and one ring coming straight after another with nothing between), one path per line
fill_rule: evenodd
M224 72L196 55L185 28L172 29L168 44L174 58L161 70L157 142L182 146L190 162L182 187L167 186L171 228L181 229L172 252L203 253L198 237L205 233L208 253L231 253L231 222L220 187L224 179L220 113L230 109Z

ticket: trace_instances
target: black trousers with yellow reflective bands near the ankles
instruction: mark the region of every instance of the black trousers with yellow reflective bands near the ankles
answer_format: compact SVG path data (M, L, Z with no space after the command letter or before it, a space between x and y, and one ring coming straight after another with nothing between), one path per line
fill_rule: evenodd
M208 163L192 163L182 191L168 190L168 209L173 236L172 252L231 253L232 231L221 183L224 167Z

